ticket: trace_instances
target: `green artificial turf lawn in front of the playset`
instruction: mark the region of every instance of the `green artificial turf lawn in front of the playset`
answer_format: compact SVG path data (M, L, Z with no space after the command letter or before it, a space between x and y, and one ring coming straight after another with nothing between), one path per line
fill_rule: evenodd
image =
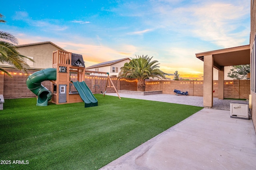
M36 106L36 98L5 100L0 169L99 169L202 109L95 97L98 106L87 108L84 103Z

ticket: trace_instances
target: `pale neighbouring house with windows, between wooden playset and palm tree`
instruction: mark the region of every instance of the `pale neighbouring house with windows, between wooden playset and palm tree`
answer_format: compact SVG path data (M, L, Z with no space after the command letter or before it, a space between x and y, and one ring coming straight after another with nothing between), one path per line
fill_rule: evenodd
M92 66L86 67L85 69L88 71L108 72L110 76L118 76L120 68L124 66L124 63L129 63L130 61L131 60L129 58L118 59L113 61L107 61L104 63L94 64Z

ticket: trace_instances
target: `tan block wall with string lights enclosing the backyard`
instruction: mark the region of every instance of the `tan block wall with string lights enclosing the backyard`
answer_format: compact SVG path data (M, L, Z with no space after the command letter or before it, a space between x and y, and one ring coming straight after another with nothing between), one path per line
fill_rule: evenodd
M26 86L26 79L29 74L35 71L28 71L28 74L18 72L17 70L8 70L13 75L10 78L6 74L0 73L0 94L6 99L10 98L29 98L36 97ZM132 78L111 77L112 82L117 90L137 90L137 81ZM85 82L92 93L104 92L107 76L86 75ZM51 90L52 83L44 81L42 84ZM112 85L111 85L112 86ZM204 81L202 80L186 80L186 81L170 81L170 80L146 80L146 91L162 90L163 94L175 94L174 89L188 92L190 96L203 96ZM218 98L218 80L213 81L213 96ZM2 93L1 93L2 92ZM115 93L114 88L107 88L107 93ZM225 80L224 81L224 98L249 98L250 80Z

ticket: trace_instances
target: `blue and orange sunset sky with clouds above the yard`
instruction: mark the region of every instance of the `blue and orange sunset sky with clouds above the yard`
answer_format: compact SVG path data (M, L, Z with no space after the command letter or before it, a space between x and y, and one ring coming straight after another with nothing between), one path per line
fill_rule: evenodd
M198 80L195 53L250 43L250 0L12 0L0 13L19 44L51 41L86 66L154 56L164 72Z

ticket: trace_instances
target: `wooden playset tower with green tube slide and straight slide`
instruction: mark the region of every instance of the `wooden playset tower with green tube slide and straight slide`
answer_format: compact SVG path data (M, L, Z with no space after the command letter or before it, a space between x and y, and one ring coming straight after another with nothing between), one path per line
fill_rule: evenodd
M84 82L85 66L82 55L66 51L54 51L52 68L34 72L28 76L26 84L37 96L37 106L68 104L84 101L84 107L98 106L98 100ZM41 82L52 82L52 90L45 88Z

